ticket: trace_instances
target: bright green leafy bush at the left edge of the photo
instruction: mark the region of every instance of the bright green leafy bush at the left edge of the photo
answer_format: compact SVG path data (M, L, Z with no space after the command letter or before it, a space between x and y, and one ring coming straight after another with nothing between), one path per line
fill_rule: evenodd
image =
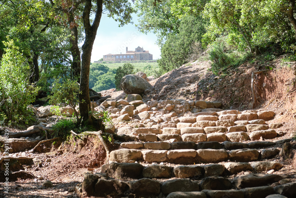
M35 100L38 87L29 83L32 72L19 47L12 40L4 44L7 49L0 66L1 124L28 125L34 118L27 106Z

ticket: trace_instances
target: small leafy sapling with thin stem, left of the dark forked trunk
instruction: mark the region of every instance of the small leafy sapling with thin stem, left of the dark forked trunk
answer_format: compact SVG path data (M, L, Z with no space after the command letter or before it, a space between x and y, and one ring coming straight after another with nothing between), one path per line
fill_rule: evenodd
M76 119L78 118L78 113L75 110L76 104L78 103L77 94L79 93L79 85L74 80L64 80L61 81L61 77L54 80L52 87L52 95L49 96L49 102L51 104L61 104L70 105L73 108Z

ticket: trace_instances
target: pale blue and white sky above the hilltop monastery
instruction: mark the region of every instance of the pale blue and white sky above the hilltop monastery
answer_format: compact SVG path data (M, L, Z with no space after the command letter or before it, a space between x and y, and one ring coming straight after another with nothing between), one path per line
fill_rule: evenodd
M138 23L138 17L133 14L133 23ZM137 30L134 24L118 27L119 22L103 14L94 41L91 53L91 62L98 61L106 54L126 53L135 50L138 46L149 50L153 60L160 58L160 48L155 44L157 37L153 33L143 34Z

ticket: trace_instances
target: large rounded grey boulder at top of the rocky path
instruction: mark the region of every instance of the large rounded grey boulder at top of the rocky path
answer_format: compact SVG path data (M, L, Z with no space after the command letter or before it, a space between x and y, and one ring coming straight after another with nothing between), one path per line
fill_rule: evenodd
M142 94L146 89L152 88L152 85L144 78L130 74L121 79L120 87L126 94Z

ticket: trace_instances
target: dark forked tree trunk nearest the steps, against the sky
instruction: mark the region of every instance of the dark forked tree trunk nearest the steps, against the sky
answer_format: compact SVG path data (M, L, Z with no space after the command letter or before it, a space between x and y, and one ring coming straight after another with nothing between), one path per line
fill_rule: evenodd
M79 86L79 111L81 116L81 122L83 124L87 121L92 124L91 114L91 101L89 99L89 65L91 62L91 51L94 45L94 39L96 38L96 31L99 27L100 20L103 12L103 1L96 1L96 15L94 22L91 25L89 16L91 12L91 0L86 0L84 5L84 10L82 14L85 40L82 45L82 55L81 55L81 73L80 73L80 86Z

